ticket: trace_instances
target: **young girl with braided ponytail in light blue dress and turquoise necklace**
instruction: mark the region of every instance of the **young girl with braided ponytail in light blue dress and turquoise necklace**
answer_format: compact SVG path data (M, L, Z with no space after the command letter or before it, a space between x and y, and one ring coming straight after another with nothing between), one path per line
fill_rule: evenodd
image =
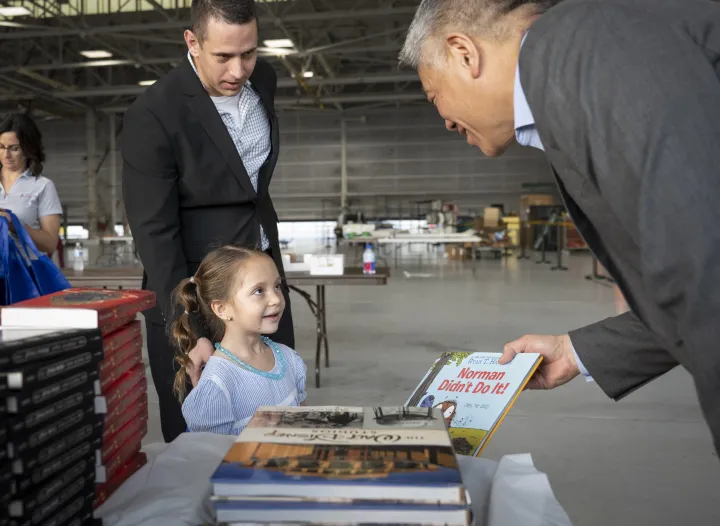
M177 362L175 392L189 431L237 435L263 405L304 404L306 367L273 334L285 309L273 260L262 252L226 246L208 254L175 290L184 313L173 324ZM187 354L197 343L190 315L210 331L215 354L185 398ZM183 401L184 400L184 401Z

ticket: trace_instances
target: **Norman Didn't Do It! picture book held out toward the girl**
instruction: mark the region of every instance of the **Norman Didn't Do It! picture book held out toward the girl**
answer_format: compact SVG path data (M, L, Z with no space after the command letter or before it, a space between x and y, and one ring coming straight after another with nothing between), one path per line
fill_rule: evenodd
M459 455L479 456L542 357L518 354L500 365L500 353L443 353L407 401L442 411Z

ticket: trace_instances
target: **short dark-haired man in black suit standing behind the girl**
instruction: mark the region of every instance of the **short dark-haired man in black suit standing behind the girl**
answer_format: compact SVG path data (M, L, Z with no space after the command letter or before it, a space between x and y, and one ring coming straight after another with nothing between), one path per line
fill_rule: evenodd
M213 247L229 243L266 251L283 273L268 193L279 149L277 77L257 58L255 4L193 0L191 17L187 58L135 101L121 142L123 196L145 269L143 287L157 294L145 326L167 442L186 429L172 392L173 289ZM273 339L292 348L287 289L285 299ZM211 353L209 340L200 338L191 355L198 363Z

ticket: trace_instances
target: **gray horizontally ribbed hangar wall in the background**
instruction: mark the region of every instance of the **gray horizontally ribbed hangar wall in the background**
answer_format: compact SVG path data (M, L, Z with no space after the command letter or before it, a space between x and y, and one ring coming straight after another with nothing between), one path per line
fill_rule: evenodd
M101 116L101 119L107 119ZM119 119L118 119L119 121ZM282 220L337 218L340 204L340 119L332 111L280 115L281 155L271 193ZM70 222L87 217L85 121L40 123L48 161L46 175L68 206ZM551 183L540 152L513 147L488 159L448 133L435 111L417 106L355 112L347 117L348 190L351 211L370 218L410 217L417 201L443 199L461 213L503 203L518 211L523 183ZM97 123L97 158L108 144L107 121ZM121 174L118 155L118 174ZM121 184L120 175L117 181ZM99 214L110 217L109 157L98 181ZM118 188L118 198L121 192ZM422 209L422 208L421 208ZM122 215L119 215L122 219Z

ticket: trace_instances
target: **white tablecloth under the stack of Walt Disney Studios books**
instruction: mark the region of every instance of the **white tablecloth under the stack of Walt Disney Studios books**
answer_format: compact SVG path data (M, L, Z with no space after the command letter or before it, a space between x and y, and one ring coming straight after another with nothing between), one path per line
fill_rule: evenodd
M148 463L133 475L96 516L104 526L178 526L213 523L210 476L234 437L185 433L171 444L145 448ZM470 492L475 526L571 526L544 473L530 455L499 463L459 457Z

